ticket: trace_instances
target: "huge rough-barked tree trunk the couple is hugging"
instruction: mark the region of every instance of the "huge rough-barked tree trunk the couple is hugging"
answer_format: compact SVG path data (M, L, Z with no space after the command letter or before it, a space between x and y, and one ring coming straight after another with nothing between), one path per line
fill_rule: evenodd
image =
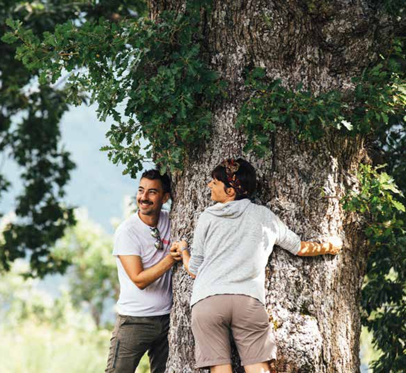
M344 213L340 198L356 188L350 175L366 156L362 137L328 133L317 143L292 134L273 134L270 155L243 154L244 136L234 128L241 103L244 68L266 67L269 78L286 86L302 82L314 92L351 86L376 56L389 31L372 2L354 0L215 0L202 29L211 66L228 80L228 97L213 108L213 133L202 149L173 176L173 236L192 238L210 203L207 182L223 158L244 156L262 185L257 203L272 209L302 240L343 238L336 256L294 257L276 247L269 258L266 306L276 325L278 371L358 372L360 289L366 250L357 219ZM164 9L183 11L179 1L150 0L152 16ZM247 253L249 256L249 253ZM194 371L189 299L192 280L174 270L174 308L169 373ZM236 353L234 370L242 372Z

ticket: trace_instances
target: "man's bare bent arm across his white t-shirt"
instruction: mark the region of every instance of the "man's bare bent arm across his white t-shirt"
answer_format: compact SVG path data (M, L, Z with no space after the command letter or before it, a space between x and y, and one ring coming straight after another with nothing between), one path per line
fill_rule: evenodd
M118 255L118 257L128 277L141 290L151 285L167 270L171 269L173 264L181 260L181 258L176 259L168 254L157 264L144 269L141 257L138 255Z

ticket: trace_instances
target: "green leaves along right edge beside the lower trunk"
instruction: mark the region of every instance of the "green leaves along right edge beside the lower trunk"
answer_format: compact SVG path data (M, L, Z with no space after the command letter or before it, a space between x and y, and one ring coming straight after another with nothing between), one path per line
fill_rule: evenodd
M361 164L360 190L346 196L343 207L363 214L369 240L362 322L382 351L372 369L400 373L406 366L406 214L393 178L378 171L384 166Z

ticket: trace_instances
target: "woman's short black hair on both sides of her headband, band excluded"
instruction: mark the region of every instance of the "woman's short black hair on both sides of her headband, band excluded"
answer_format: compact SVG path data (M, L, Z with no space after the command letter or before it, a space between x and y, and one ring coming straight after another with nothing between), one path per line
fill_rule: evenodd
M247 162L245 159L238 158L235 159L235 162L237 162L240 166L234 174L242 187L241 192L246 192L245 194L242 194L234 188L236 193L235 200L238 201L243 200L244 198L250 198L254 194L256 190L256 172L252 164ZM226 191L227 188L233 188L228 181L226 167L224 167L222 164L219 164L212 171L212 177L224 183L224 191Z

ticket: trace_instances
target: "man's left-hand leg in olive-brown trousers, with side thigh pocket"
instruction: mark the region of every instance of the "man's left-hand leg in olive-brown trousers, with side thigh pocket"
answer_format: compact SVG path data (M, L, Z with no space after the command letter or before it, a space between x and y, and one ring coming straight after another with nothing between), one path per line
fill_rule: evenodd
M110 339L106 373L134 373L149 346L151 329L143 330L131 316L117 316Z

